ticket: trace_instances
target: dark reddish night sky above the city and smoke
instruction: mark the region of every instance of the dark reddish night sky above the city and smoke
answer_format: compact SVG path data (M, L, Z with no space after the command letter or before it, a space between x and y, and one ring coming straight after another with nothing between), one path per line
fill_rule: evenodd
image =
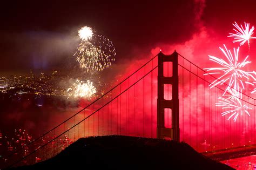
M0 73L59 67L75 52L84 25L112 40L118 63L186 42L202 25L220 36L234 21L256 25L255 7L231 0L2 1Z

